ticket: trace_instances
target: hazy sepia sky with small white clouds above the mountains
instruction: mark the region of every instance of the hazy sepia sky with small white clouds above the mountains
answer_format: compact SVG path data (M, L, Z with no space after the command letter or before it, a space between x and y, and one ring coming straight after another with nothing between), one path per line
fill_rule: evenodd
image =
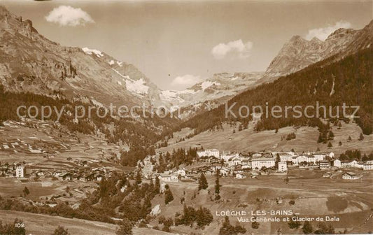
M2 1L52 41L134 64L163 90L213 73L265 71L294 35L361 29L372 1Z

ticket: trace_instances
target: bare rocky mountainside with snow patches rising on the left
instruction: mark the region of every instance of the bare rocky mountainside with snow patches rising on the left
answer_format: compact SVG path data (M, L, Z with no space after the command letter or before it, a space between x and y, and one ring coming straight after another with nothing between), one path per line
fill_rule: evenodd
M83 50L84 49L84 50ZM6 90L88 97L102 104L160 104L160 90L132 64L99 50L59 45L0 6L0 82Z

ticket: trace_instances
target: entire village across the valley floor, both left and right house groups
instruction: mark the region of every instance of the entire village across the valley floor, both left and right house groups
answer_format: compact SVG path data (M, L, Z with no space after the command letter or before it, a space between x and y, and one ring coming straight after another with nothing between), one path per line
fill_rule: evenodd
M353 170L373 170L373 161L358 162L355 159L341 161L333 152L255 152L251 155L241 153L220 152L217 149L197 151L198 164L185 166L182 169L171 169L162 173L153 172L153 164L150 159L156 156L148 156L143 162L139 162L143 178L158 177L164 182L178 182L179 180L196 180L202 173L205 176L215 176L219 171L220 176L231 178L256 178L259 175L284 175L288 169L319 169L325 171L323 177L332 176L332 171L342 174L344 180L359 179ZM36 179L53 178L54 180L79 180L100 181L102 178L110 178L113 169L101 165L100 160L67 159L74 166L71 169L38 169L27 162L5 162L0 165L0 177ZM133 176L133 173L129 173ZM23 182L25 182L23 180Z

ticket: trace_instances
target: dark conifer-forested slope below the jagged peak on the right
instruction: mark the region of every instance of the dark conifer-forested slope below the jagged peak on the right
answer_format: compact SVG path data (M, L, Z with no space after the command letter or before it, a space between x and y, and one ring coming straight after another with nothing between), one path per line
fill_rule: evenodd
M308 66L302 71L283 76L272 83L266 83L237 95L228 101L227 107L234 102L237 104L232 108L233 113L239 113L240 106L262 106L266 102L269 111L273 106L316 106L316 101L323 106L360 106L355 121L363 129L364 134L372 134L372 111L373 111L373 49L367 48L354 55L344 57L335 62L335 57L330 57L321 62ZM222 122L240 121L247 123L248 118L234 118L229 115L225 118L225 105L221 105L213 111L202 113L196 117L183 122L180 128L190 127L195 129L195 134L207 129L220 127ZM251 110L250 110L251 111ZM353 109L347 110L347 113ZM245 113L244 110L242 113ZM316 108L309 109L308 115L316 115ZM293 111L288 111L288 118L268 118L265 115L256 123L255 129L278 129L287 126L310 125L321 127L321 121L317 118L293 118ZM324 112L321 108L320 116ZM336 115L335 109L332 115L327 111L326 118ZM342 111L339 112L339 119L342 118Z

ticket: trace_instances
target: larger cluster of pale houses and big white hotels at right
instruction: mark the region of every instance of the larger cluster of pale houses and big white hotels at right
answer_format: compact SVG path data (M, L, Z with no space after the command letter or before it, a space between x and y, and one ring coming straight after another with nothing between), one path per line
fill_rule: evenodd
M204 173L205 176L215 175L219 170L220 176L233 176L234 178L255 178L259 174L286 174L288 166L316 169L344 169L356 168L373 170L373 161L357 162L356 160L341 161L335 158L333 152L255 152L220 153L217 149L197 151L199 162L207 162L204 166L192 169L178 169L153 173L164 182L178 182L179 179L197 178ZM326 176L323 176L326 177ZM342 175L343 179L357 179L355 173L349 171Z

